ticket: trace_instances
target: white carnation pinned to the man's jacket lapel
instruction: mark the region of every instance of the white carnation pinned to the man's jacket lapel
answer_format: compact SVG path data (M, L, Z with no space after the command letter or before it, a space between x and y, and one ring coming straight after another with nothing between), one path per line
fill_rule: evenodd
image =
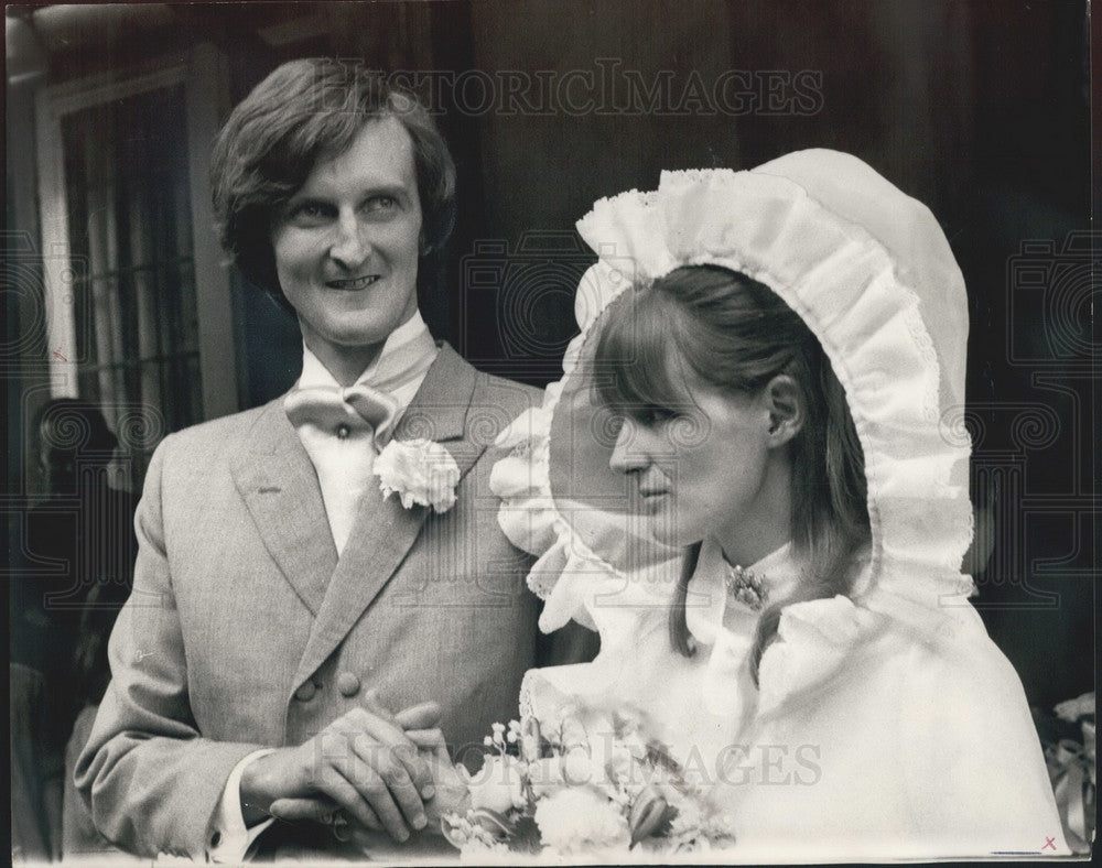
M406 509L418 504L447 512L455 506L460 467L434 441L390 441L375 459L371 473L379 477L382 496L397 493Z

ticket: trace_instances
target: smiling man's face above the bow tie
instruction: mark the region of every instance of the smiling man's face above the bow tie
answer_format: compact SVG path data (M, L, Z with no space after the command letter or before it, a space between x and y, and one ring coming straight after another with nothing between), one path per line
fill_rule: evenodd
M348 150L320 160L277 215L280 286L331 370L417 311L420 238L413 143L395 118L368 121Z

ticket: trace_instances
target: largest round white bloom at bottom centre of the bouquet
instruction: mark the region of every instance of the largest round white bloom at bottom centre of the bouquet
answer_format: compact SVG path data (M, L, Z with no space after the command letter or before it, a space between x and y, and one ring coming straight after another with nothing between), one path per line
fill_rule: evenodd
M587 786L568 786L536 805L544 847L562 854L599 847L627 848L631 836L617 807Z

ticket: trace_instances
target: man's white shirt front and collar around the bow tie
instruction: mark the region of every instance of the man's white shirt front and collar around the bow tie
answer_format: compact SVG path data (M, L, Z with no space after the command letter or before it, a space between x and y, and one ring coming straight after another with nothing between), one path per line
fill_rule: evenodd
M342 389L333 375L303 345L302 376L295 383L294 391L288 395L289 402L294 392L307 389L335 390L344 397L357 386L368 386L387 393L397 404L393 421L386 426L385 432L379 432L378 438L369 426L363 424L315 424L313 421L298 420L292 414L298 422L295 431L299 438L317 473L325 514L338 554L348 542L356 506L371 482L371 467L383 445L382 435L389 436L393 431L402 412L421 388L436 352L436 345L421 313L415 312L391 333L378 358L359 376L355 386ZM349 413L354 413L350 406Z

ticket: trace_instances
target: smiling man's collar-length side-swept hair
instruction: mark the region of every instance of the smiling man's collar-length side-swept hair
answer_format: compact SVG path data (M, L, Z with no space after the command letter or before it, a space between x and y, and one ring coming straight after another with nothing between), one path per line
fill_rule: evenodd
M222 245L241 273L282 305L274 217L320 160L344 153L365 123L381 118L398 120L413 142L424 256L443 247L455 223L455 165L424 107L378 72L326 57L285 63L218 133L210 187Z

